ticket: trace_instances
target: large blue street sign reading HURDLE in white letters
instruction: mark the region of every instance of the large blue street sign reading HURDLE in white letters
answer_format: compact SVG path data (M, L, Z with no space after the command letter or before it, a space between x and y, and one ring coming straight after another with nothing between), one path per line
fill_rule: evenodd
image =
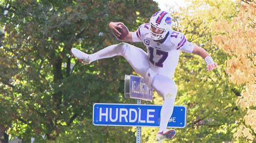
M161 105L106 104L93 105L92 123L96 126L146 126L158 127ZM168 127L186 126L186 107L174 106Z

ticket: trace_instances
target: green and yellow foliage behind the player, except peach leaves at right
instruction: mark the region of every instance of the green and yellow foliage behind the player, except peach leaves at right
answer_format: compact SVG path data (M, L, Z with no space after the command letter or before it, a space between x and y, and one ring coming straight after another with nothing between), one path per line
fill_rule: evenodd
M231 23L239 16L241 4L247 2L194 1L187 8L170 8L173 29L205 48L219 65L207 72L199 56L180 55L174 78L178 86L176 104L187 106L187 126L177 129L173 141L255 141L255 124L242 119L250 116L255 121L255 113L250 114L247 107L236 102L238 97L244 98L246 88L230 82L230 73L225 71L230 67L226 61L233 55L213 40L214 35L225 34L216 28L220 22ZM93 103L136 102L123 98L124 75L136 74L129 63L114 57L82 66L69 51L75 47L93 53L117 44L107 24L123 22L135 31L159 10L156 2L4 0L0 8L4 30L0 48L2 141L9 135L23 141L33 137L36 142L135 142L135 127L91 124ZM255 5L250 9L254 12L248 13L254 15L250 28L255 31ZM236 30L230 27L230 31ZM255 39L255 33L250 37ZM145 50L142 44L135 45ZM255 43L252 49L250 69L255 79ZM255 80L248 82L255 84ZM144 103L162 104L163 99L155 92L153 102ZM255 104L250 109L255 109ZM237 135L241 124L248 128L250 138L248 134ZM143 142L153 142L157 130L143 127Z

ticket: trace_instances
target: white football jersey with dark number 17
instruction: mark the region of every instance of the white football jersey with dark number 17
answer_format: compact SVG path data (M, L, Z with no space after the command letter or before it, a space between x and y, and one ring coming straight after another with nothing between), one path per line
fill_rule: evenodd
M164 39L154 41L150 37L149 28L148 23L140 25L136 32L132 32L132 40L144 43L153 71L173 78L180 51L192 53L195 45L188 42L184 34L173 30L170 30Z

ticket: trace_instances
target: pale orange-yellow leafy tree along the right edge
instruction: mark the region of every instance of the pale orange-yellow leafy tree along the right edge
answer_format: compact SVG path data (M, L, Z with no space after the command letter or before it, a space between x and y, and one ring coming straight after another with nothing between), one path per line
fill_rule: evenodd
M246 111L244 118L239 118L239 127L234 133L235 139L256 141L256 4L244 2L240 12L232 22L220 20L215 25L219 32L214 37L218 44L230 58L226 61L226 73L230 82L242 87L241 96L237 103Z

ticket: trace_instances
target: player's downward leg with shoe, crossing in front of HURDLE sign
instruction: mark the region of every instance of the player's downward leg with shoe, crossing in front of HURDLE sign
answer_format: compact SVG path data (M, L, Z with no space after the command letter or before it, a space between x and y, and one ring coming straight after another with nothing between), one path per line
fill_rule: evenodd
M157 140L173 138L175 135L174 130L169 130L166 132L167 124L169 119L172 116L174 102L177 95L177 87L175 82L164 75L156 75L152 81L152 87L158 92L161 96L164 97L164 104L160 112L160 126L158 130ZM169 137L164 137L164 135Z

